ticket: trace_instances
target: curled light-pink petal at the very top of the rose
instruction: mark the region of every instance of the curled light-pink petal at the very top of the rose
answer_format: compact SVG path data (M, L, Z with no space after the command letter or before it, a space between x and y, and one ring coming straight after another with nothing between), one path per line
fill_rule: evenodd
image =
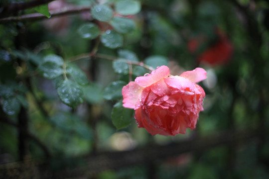
M148 87L161 79L170 75L169 68L166 66L161 66L155 71L151 72L148 76L137 77L134 82L141 87Z

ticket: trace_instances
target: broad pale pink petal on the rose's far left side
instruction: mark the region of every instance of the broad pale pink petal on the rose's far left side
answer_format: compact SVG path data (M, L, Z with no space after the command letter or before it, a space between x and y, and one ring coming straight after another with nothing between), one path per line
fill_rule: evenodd
M123 94L123 106L127 108L134 109L135 103L138 100L142 87L137 85L135 82L130 82L128 85L123 87L122 94Z

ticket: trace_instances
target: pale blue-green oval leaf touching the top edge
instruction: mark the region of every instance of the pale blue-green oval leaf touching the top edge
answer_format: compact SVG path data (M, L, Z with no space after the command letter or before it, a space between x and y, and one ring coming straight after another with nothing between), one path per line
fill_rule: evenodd
M141 4L138 0L119 0L115 10L121 15L134 15L141 10Z

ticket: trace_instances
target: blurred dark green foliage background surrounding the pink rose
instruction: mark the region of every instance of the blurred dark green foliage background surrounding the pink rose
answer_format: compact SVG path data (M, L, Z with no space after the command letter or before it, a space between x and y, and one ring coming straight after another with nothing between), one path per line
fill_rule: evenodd
M0 178L269 178L268 0L50 1L0 2ZM185 135L122 107L161 65L207 71Z

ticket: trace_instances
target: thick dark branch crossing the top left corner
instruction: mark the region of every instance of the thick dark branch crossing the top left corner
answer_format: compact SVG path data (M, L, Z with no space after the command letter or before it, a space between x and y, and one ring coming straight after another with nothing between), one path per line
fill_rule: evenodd
M32 0L32 1L26 1L26 2L10 3L10 4L7 4L7 6L3 7L3 9L0 11L0 16L4 16L10 13L16 13L20 10L24 10L24 9L34 7L37 5L42 5L51 1L53 0Z

